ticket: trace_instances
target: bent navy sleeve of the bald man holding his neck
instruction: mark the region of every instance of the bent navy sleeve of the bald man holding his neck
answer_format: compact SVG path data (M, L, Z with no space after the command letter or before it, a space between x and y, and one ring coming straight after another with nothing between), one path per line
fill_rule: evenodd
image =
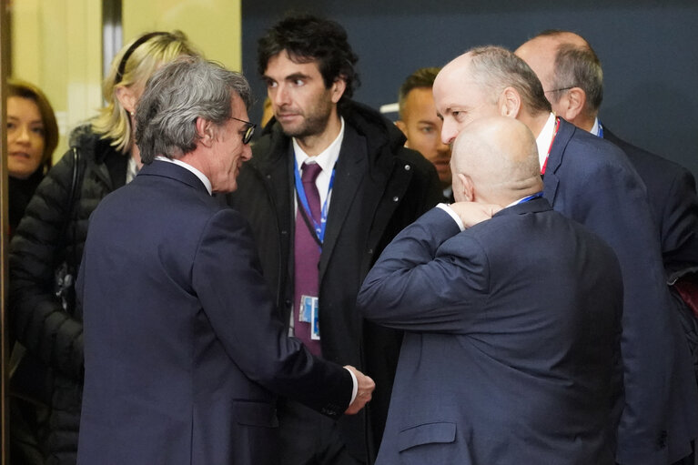
M359 291L365 318L395 329L460 333L488 290L484 252L440 208L406 227ZM456 236L458 235L458 236ZM453 238L456 236L456 238ZM450 240L458 247L448 247Z

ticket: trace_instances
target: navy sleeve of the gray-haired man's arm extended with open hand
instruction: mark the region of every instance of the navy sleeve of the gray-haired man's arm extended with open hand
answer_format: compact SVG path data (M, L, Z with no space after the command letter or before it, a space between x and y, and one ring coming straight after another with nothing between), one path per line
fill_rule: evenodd
M349 371L289 338L264 280L247 222L232 209L212 217L192 282L217 338L249 379L330 417L349 406Z

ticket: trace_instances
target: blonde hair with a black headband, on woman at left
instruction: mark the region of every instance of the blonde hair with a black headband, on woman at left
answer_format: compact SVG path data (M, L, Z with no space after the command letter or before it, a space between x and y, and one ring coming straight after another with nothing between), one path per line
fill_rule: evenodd
M149 37L143 41L146 35ZM117 88L137 84L145 86L147 79L158 67L183 55L200 56L194 45L187 40L187 35L181 31L147 33L125 45L112 60L109 74L102 84L106 106L92 120L95 133L104 139L110 139L116 150L126 153L134 131L128 112L116 98Z

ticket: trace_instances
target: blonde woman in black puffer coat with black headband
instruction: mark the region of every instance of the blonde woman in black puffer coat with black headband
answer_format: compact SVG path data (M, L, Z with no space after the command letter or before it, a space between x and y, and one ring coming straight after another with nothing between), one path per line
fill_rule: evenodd
M138 98L158 67L182 55L198 53L177 31L141 35L116 55L103 85L106 106L70 136L71 148L37 187L10 245L10 325L27 353L51 369L46 463L76 462L84 360L73 281L87 220L102 198L136 176Z

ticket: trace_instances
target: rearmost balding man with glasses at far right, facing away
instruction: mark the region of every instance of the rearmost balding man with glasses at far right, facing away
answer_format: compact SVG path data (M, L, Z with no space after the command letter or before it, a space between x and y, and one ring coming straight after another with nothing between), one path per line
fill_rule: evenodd
M531 66L543 88L548 89L544 91L545 96L558 116L611 141L630 159L647 187L647 198L662 244L667 282L673 285L678 282L672 287L673 292L683 290L683 279L693 278L691 273L698 269L698 197L693 175L676 163L632 146L602 125L598 118L603 97L601 60L581 35L560 30L543 31L515 53ZM695 349L698 322L680 298L675 302L680 305L678 315L688 340L693 343L693 363L698 365ZM683 431L688 437L698 436L698 416L686 426L672 430ZM678 446L679 450L689 451L685 440ZM672 456L682 454L677 452ZM684 462L693 465L692 458L679 463Z

